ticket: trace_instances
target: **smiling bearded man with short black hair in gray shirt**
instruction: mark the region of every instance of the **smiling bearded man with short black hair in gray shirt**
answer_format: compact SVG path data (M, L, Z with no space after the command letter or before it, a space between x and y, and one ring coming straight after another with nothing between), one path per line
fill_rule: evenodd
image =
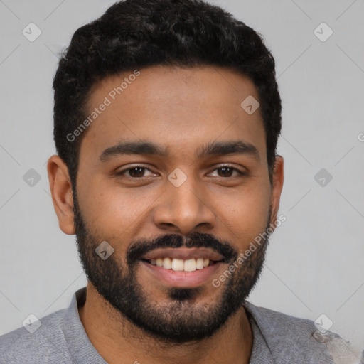
M1 363L343 363L335 333L246 301L284 221L281 100L252 28L203 1L119 2L53 87L50 191L88 284L3 336Z

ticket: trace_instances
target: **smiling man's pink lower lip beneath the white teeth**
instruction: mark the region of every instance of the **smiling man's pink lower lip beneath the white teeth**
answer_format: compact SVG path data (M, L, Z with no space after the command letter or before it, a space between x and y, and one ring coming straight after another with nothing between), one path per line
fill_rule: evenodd
M142 260L141 263L159 281L168 286L179 288L193 288L205 284L206 282L211 282L213 280L213 275L219 269L220 265L223 264L222 262L216 262L203 269L196 269L193 272L183 272L161 268L145 262L144 260Z

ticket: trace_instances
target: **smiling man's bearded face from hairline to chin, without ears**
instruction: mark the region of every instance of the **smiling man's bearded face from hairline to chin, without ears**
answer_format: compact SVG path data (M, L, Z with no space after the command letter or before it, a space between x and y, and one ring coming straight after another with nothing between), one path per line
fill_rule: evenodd
M239 309L264 261L266 244L226 274L271 223L262 117L240 106L259 97L249 79L223 68L140 72L120 95L110 92L129 73L92 90L90 113L105 97L111 103L80 148L77 245L91 284L129 321L165 340L199 340ZM128 142L164 153L110 149ZM236 143L243 148L221 148ZM107 259L95 252L104 241L114 250Z

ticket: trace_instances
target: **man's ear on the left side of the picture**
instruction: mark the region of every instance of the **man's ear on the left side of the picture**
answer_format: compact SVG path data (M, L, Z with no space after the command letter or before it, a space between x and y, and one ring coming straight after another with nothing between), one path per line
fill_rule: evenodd
M48 159L47 171L50 193L60 230L65 234L73 235L75 234L73 193L68 168L60 156L53 155Z

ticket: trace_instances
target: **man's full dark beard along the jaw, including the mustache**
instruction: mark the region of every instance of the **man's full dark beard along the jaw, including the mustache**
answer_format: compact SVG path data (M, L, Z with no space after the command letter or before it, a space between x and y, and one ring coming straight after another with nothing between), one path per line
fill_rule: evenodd
M151 301L136 274L140 259L147 252L163 247L208 247L223 256L223 262L228 264L226 270L236 261L239 252L229 242L195 232L186 237L169 234L151 240L132 240L127 249L126 263L117 254L103 260L95 252L103 239L92 235L87 228L76 191L73 191L73 202L77 250L88 281L122 318L159 341L182 344L212 336L240 309L259 279L269 240L267 233L252 255L242 264L235 264L237 269L231 275L229 272L230 277L225 279L225 284L216 288L218 294L214 301L198 303L198 297L203 297L203 287L170 287L166 290L168 302ZM269 210L267 228L270 217ZM110 245L121 244L118 241Z

